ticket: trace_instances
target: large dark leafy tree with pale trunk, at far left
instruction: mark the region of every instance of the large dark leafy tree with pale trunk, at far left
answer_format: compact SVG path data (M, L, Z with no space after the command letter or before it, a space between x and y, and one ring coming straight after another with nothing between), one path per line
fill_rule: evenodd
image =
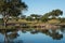
M3 16L4 26L10 16L17 17L24 10L27 10L27 5L22 0L0 0L0 14Z

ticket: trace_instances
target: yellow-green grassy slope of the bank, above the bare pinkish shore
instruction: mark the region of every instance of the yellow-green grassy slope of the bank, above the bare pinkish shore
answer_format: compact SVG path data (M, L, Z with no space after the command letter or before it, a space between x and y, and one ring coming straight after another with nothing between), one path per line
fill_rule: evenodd
M8 20L6 28L4 28L3 20L0 20L0 29L16 29L16 28L34 28L34 26L46 26L46 25L65 25L65 23L61 23L58 19L51 19L48 22L38 22L38 20L26 20L26 19L18 19L18 20Z

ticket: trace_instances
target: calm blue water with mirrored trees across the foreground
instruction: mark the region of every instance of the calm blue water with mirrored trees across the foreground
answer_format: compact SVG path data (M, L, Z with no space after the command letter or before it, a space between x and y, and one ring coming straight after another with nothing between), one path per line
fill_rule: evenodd
M65 43L65 28L55 30L0 30L0 43Z

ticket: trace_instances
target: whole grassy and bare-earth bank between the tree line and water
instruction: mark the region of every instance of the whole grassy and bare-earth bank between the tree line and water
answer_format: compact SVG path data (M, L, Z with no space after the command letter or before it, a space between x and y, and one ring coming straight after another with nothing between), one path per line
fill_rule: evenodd
M26 19L9 19L6 22L6 27L4 27L4 23L0 23L0 29L23 29L23 28L35 28L35 29L56 29L61 27L65 27L65 23L61 23L57 19L51 19L48 22L38 22L38 20L26 20Z

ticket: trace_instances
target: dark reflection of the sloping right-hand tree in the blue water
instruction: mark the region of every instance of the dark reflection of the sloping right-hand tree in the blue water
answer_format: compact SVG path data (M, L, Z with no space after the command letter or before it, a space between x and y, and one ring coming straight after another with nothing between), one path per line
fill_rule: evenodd
M51 31L42 30L41 32L52 37L53 40L61 40L63 38L63 34L60 34L58 32L56 32L56 30L51 30Z

